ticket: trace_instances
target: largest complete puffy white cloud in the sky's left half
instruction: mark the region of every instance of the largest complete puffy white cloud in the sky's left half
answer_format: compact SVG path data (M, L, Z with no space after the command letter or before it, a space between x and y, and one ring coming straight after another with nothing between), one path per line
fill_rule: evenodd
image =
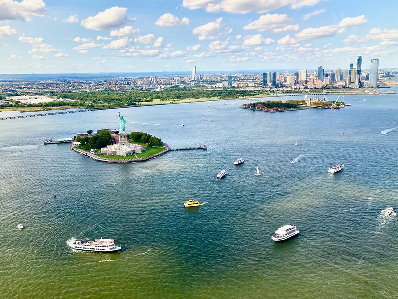
M86 29L108 30L127 22L127 8L112 7L99 12L95 16L89 16L80 24Z

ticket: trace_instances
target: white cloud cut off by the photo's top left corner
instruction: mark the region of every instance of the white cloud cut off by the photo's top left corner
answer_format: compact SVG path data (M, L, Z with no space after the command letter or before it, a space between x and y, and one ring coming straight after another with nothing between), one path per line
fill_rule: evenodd
M33 16L45 16L47 13L43 0L1 0L0 11L0 21L19 19L30 22Z

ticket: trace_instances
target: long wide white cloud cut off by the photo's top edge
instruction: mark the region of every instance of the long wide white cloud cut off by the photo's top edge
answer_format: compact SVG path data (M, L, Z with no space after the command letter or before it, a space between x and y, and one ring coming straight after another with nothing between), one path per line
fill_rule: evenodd
M183 0L183 7L202 9L207 12L230 12L246 14L249 12L265 13L291 5L292 9L313 6L321 0Z

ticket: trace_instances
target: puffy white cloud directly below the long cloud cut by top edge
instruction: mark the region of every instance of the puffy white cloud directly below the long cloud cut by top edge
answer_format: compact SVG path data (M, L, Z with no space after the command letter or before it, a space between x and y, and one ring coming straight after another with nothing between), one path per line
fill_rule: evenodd
M245 30L257 30L260 32L274 31L285 32L289 30L298 30L298 25L288 25L293 21L286 14L265 14L259 17L258 20L243 27Z

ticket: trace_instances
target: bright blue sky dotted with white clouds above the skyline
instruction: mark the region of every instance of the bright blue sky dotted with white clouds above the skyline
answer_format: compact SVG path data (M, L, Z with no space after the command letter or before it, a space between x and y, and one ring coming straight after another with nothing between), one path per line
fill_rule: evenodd
M0 0L0 73L398 67L398 1Z

